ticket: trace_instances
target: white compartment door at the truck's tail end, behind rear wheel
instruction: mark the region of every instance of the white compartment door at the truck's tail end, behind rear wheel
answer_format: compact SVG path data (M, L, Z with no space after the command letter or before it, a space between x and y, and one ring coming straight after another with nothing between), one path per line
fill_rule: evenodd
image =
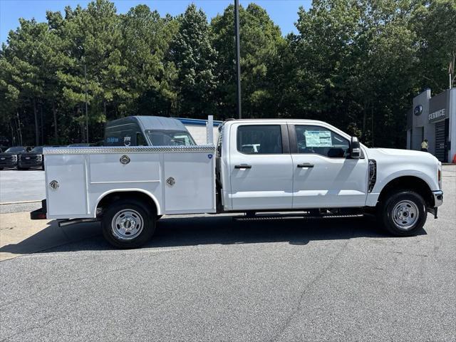
M46 155L44 160L48 219L88 217L86 155Z

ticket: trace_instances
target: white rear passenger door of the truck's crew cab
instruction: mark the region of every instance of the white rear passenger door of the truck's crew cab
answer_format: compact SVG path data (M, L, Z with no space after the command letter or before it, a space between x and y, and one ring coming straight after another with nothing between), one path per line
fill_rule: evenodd
M293 169L286 123L236 123L229 136L232 209L291 208Z

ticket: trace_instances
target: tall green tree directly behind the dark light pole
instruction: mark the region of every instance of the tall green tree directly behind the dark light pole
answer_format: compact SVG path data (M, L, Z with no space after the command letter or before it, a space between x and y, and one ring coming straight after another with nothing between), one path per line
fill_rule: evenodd
M212 22L217 58L217 115L233 118L236 115L236 73L234 50L234 6ZM276 118L279 112L275 100L279 50L286 45L280 28L257 4L239 8L242 108L248 118ZM247 114L248 113L248 114Z

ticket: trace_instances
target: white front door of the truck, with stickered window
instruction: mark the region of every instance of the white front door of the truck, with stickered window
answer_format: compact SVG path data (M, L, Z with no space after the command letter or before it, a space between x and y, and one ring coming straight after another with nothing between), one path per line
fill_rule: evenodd
M363 207L368 160L346 157L350 142L320 125L289 125L293 208Z

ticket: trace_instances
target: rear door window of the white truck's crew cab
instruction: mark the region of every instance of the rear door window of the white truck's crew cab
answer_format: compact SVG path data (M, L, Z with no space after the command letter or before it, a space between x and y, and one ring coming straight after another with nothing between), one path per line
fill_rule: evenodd
M237 150L246 155L280 154L280 125L242 125L237 128Z

